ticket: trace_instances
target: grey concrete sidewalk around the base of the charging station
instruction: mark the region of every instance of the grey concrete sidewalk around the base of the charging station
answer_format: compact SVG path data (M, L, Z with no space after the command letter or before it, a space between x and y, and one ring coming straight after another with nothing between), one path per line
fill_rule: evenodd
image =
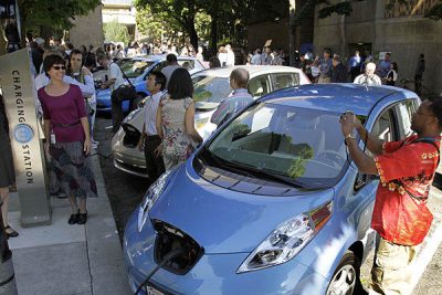
M9 239L19 295L130 294L122 246L106 194L99 159L93 157L98 198L87 200L85 225L69 225L67 199L52 198L52 224L20 226L17 193L11 193Z

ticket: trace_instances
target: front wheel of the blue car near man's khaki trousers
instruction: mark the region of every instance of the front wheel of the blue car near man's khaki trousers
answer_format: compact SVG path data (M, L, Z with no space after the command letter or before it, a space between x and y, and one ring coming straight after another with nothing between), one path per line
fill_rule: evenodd
M326 295L360 294L360 261L355 253L347 251L339 262L328 284Z

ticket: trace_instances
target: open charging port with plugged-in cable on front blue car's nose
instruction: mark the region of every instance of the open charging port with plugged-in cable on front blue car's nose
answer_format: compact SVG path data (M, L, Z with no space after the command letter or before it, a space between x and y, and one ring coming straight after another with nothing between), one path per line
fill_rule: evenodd
M152 223L157 231L154 251L155 262L161 264L166 255L172 251L181 250L176 257L164 263L162 268L179 275L187 274L204 254L204 249L187 233L166 222L157 220Z

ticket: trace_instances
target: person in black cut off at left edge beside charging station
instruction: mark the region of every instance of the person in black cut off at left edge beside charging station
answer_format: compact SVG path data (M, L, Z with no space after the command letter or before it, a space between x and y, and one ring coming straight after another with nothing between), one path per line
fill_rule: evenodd
M9 124L4 109L3 96L0 95L0 204L3 218L4 232L14 238L19 233L8 223L9 187L15 182L15 172L12 160L11 141L9 138ZM1 228L0 228L1 230Z

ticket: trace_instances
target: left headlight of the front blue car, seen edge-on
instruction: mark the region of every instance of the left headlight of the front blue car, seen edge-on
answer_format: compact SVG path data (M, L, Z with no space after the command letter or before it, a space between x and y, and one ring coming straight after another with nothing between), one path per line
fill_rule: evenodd
M149 211L152 209L159 196L161 196L162 191L165 190L171 171L172 170L168 170L164 172L147 190L138 211L138 231L141 231L143 225L149 215Z

